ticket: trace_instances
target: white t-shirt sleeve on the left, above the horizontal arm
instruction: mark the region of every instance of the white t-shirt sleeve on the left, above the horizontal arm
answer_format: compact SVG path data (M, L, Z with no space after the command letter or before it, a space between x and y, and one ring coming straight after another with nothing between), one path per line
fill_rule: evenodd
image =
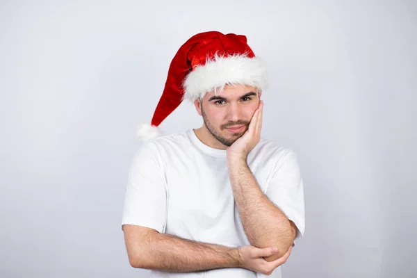
M165 230L166 187L156 148L145 143L133 158L124 198L123 224Z

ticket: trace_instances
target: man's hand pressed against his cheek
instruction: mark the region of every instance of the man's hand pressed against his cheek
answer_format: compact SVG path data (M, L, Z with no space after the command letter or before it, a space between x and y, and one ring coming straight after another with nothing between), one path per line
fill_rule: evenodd
M245 134L227 148L227 158L244 159L246 161L247 154L254 149L261 139L262 115L263 101L259 101L259 106L252 116Z

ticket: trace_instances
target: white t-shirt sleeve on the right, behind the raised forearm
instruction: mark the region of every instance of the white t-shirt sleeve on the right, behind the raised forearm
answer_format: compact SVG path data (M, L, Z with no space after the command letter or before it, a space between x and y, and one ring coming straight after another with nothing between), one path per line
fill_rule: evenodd
M296 239L304 236L304 187L297 154L286 149L282 162L277 163L265 195L297 226Z

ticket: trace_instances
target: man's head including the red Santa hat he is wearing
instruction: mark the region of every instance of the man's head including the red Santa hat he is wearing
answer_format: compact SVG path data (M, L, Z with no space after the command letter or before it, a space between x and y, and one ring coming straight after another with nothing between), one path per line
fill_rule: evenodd
M263 59L255 56L245 35L218 31L195 34L172 58L152 121L139 127L137 138L149 140L161 136L159 124L183 100L199 99L195 105L204 118L204 126L198 131L204 132L204 139L212 141L210 145L223 148L243 134L243 129L233 131L227 126L244 124L247 129L258 107L259 95L244 95L265 90L267 83L266 65ZM245 85L223 88L224 84ZM218 97L224 99L210 99L216 91L220 91Z

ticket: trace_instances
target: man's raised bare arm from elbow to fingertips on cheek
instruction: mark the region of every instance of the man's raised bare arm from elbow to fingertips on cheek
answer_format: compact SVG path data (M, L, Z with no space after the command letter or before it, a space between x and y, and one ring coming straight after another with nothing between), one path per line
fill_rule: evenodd
M245 134L227 148L227 167L247 239L259 248L277 247L277 254L265 258L273 261L293 245L296 230L286 215L263 194L247 165L248 154L261 139L262 117L263 101L259 101Z

